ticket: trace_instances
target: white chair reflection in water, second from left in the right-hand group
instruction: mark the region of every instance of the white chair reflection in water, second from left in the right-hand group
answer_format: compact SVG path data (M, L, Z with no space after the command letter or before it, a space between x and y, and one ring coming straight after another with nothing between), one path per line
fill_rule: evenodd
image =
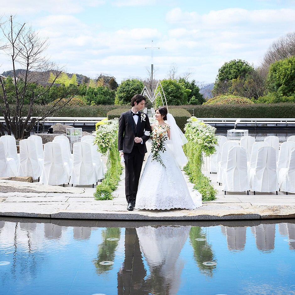
M251 232L255 235L256 247L260 251L275 249L275 224L260 224L251 227Z

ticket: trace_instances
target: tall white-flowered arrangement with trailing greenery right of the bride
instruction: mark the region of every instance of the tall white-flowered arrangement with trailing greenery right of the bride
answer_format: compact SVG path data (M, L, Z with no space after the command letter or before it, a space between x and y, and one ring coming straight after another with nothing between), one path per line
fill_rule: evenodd
M202 201L216 199L217 191L210 184L210 179L202 174L203 155L209 157L216 152L217 137L216 128L199 121L196 117L190 117L185 124L185 137L188 143L184 145L184 151L188 163L184 167L186 174L194 188L202 194Z

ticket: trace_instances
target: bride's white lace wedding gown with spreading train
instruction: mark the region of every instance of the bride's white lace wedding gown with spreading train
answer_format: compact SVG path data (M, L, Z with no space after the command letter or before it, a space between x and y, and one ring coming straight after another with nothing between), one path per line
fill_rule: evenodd
M156 160L152 161L152 153L147 156L136 196L138 209L191 210L202 206L201 194L197 190L188 189L169 144L171 142L167 139L166 151L159 153L166 168Z

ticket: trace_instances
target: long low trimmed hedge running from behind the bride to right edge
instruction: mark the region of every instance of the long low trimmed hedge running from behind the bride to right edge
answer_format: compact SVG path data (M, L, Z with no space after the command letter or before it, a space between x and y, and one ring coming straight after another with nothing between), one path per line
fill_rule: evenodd
M294 103L254 105L179 105L171 109L194 110L197 118L295 118Z

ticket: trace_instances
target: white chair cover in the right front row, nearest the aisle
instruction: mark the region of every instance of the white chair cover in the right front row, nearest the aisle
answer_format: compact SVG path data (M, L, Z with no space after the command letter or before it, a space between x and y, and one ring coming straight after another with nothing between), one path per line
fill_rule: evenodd
M245 191L250 189L247 173L247 152L244 147L230 147L226 169L223 173L224 191Z

